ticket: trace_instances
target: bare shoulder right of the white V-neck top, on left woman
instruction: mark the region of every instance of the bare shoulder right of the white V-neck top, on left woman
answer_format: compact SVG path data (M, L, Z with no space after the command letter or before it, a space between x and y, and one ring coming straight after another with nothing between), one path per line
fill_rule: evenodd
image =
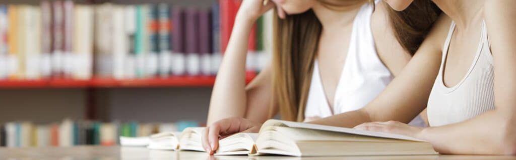
M378 3L371 19L371 31L380 61L394 76L410 61L411 55L396 39L384 3Z

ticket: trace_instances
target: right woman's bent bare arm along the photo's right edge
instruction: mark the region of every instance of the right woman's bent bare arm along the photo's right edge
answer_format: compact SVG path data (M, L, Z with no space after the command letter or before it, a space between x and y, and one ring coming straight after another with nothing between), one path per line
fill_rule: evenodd
M425 129L420 137L442 153L516 154L516 1L486 1L494 58L496 109L462 123ZM481 145L479 145L481 144Z

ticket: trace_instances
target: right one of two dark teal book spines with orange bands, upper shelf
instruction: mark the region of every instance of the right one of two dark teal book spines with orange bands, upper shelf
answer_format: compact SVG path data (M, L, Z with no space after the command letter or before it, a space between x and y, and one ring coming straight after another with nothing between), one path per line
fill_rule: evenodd
M171 66L171 21L170 6L162 3L158 5L158 52L159 52L159 75L160 77L168 77L170 75Z

